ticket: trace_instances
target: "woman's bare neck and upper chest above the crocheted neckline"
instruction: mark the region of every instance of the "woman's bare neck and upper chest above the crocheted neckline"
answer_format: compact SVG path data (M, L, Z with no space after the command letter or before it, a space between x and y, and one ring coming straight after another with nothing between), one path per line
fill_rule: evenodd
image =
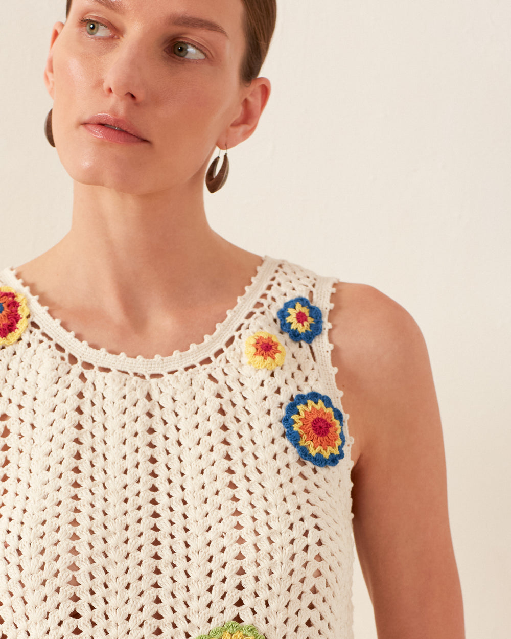
M70 233L19 274L69 330L134 353L134 345L123 346L126 332L148 344L165 325L182 342L172 349L182 350L214 330L260 263L211 229L202 197L134 198L77 185ZM190 334L178 337L183 323ZM137 354L150 357L157 348Z

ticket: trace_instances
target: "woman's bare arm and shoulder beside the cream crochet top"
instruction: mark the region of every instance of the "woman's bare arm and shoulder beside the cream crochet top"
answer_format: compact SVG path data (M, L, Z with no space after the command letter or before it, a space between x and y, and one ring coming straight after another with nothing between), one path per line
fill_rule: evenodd
M379 639L462 639L445 456L422 334L376 289L339 284L333 364L353 446L353 527Z

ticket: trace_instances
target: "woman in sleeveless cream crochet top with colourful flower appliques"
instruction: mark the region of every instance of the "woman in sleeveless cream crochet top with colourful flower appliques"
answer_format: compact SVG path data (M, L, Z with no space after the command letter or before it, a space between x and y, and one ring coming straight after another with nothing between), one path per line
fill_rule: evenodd
M273 1L70 5L45 82L72 230L0 277L2 639L350 637L351 497L379 638L462 637L415 323L206 221Z

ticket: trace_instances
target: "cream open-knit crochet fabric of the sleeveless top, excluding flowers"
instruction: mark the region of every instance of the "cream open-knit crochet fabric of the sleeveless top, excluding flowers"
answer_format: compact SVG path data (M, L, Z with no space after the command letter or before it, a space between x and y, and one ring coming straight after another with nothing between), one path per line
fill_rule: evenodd
M334 284L264 258L213 335L144 359L79 341L0 273L30 312L0 349L0 639L195 639L230 620L353 636L347 416L344 457L323 467L282 422L301 394L342 411ZM310 344L281 328L293 298L323 314ZM259 332L286 351L273 369L248 358Z

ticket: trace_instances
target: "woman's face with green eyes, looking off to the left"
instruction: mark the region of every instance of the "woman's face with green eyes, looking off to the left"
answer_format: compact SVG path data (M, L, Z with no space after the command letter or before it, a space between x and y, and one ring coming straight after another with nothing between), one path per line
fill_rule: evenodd
M139 195L202 185L215 145L248 137L244 52L241 0L73 0L45 70L66 171ZM105 127L84 123L99 114L144 141L98 137Z

